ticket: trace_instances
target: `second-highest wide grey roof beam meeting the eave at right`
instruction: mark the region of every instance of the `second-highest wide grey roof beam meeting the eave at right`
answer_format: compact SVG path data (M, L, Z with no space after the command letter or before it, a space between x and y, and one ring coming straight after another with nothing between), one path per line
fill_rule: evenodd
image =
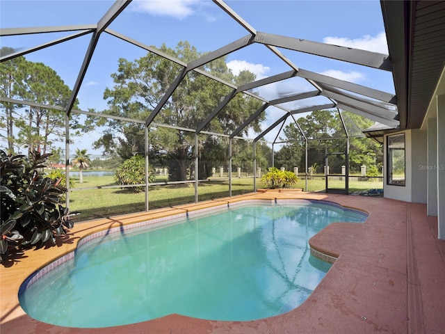
M388 102L391 104L397 103L397 98L396 98L396 95L394 95L394 94L386 93L386 92L383 92L382 90L377 90L377 89L369 88L366 86L353 84L352 82L335 79L333 77L329 77L327 75L318 74L315 72L304 70L302 68L300 68L300 71L298 71L296 76L302 77L305 79L312 79L318 84L326 84L329 86L334 86L337 88L341 88L343 90L348 90L353 93L371 97L375 100L380 100L380 101Z

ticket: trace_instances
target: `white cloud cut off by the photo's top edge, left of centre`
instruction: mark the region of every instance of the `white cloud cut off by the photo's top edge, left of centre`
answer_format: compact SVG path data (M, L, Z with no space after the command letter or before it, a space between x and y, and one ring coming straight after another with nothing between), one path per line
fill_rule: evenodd
M201 3L200 0L136 0L133 1L133 11L159 16L171 16L184 19L193 15L193 7Z

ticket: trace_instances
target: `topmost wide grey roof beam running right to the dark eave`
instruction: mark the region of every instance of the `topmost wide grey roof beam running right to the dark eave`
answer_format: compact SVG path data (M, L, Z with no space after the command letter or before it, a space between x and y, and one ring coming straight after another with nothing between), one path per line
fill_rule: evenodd
M292 38L261 32L257 32L254 41L293 51L301 51L307 54L314 54L316 56L346 61L348 63L354 63L357 65L373 67L379 70L391 71L392 69L392 63L389 60L389 56L386 54L379 54L377 52L353 49L350 47L340 47L338 45L312 42L310 40L302 40L300 38Z

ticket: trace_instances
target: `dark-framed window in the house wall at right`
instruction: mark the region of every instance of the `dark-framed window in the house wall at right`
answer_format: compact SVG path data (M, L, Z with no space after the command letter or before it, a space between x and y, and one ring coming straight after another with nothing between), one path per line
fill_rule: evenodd
M405 134L388 136L387 184L405 186Z

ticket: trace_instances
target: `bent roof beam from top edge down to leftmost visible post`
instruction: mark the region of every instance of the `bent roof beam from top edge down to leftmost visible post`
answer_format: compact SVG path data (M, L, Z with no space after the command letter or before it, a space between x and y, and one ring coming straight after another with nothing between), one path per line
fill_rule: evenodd
M86 71L88 70L88 66L90 65L90 61L92 58L92 54L94 53L96 49L97 42L99 41L99 37L106 29L108 25L113 22L113 20L118 17L120 13L122 13L122 10L124 10L131 0L117 0L115 3L113 3L113 6L111 6L110 9L107 10L105 15L97 22L97 28L96 31L92 34L90 45L88 45L88 49L86 51L85 58L83 58L83 63L81 65L81 69L79 70L79 75L76 79L76 83L74 84L74 87L72 89L72 93L70 96L70 100L68 100L67 103L67 110L66 113L69 116L72 106L74 106L74 103L76 102L77 94L79 93L79 90L81 88L81 84L83 82L83 78L85 77Z

